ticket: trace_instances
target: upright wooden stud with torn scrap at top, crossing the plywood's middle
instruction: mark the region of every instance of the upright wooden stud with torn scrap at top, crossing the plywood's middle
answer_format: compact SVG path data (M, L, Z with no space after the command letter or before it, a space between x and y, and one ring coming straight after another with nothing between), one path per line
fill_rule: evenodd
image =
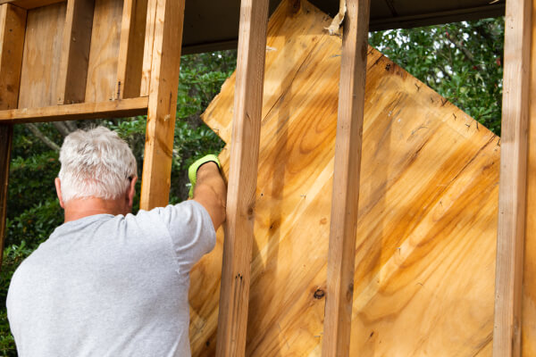
M349 0L342 35L322 356L348 356L370 0Z

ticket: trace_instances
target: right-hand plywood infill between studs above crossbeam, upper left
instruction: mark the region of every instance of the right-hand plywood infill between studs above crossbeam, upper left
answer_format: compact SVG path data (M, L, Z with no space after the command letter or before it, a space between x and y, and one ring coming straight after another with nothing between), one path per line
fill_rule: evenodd
M122 0L95 0L86 102L118 98L115 90L121 39Z

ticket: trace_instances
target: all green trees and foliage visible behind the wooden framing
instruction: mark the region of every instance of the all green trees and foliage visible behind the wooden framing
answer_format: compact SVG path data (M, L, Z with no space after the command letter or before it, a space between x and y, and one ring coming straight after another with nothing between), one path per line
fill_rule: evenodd
M504 21L498 18L375 32L369 40L406 71L499 134L503 37ZM235 66L234 50L181 59L171 203L188 195L189 164L202 154L218 153L222 148L222 141L203 124L200 115ZM63 137L96 124L117 130L129 142L141 175L144 117L15 126L7 236L0 272L0 355L16 355L4 308L13 271L63 222L54 191Z

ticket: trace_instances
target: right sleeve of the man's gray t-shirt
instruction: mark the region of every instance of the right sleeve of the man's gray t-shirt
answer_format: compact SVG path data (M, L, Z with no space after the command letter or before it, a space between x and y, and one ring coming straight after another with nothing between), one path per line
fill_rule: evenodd
M214 249L214 224L201 203L189 200L159 209L172 237L181 273L188 273L205 253Z

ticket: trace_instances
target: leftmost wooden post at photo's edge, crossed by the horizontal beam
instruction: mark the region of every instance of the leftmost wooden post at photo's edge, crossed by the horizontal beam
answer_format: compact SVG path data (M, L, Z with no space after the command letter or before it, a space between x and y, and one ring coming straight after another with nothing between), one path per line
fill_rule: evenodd
M25 30L26 10L12 4L0 5L0 110L17 107ZM13 125L0 124L0 264L4 251L12 139Z

